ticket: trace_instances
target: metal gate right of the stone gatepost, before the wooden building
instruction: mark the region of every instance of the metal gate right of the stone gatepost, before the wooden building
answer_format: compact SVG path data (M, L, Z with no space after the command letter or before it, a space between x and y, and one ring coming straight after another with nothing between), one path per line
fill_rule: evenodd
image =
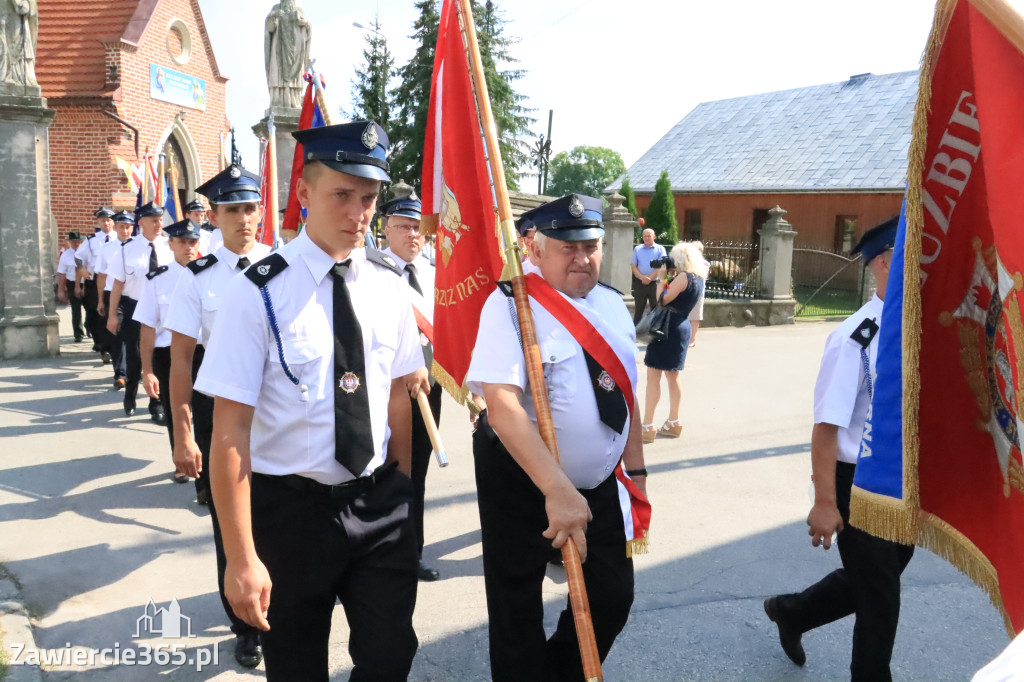
M847 316L857 311L864 295L860 254L827 249L793 250L793 296L797 317Z

